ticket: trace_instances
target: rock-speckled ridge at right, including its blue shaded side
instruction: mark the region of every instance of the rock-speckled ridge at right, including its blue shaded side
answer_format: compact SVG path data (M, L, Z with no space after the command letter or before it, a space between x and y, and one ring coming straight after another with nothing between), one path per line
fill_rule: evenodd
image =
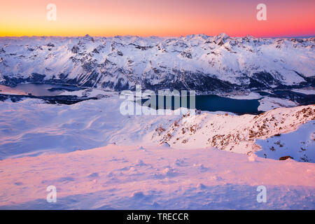
M278 160L289 155L300 162L314 162L314 120L314 105L279 108L257 116L188 114L157 127L151 139L167 142L172 148L214 147L247 155L259 151L264 158ZM294 132L297 129L300 131ZM288 132L292 133L283 137Z

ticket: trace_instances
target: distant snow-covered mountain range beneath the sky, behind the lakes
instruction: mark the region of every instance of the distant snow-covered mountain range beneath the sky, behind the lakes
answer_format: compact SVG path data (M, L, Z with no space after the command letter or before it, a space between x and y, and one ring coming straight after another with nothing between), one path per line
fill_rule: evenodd
M315 86L315 38L3 37L0 83L232 93Z

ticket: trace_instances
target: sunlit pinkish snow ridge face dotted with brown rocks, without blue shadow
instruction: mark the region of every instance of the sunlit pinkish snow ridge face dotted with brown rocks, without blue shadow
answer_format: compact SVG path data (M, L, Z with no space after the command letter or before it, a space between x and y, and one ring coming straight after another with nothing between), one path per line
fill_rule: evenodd
M166 141L173 148L212 146L225 151L250 154L260 150L255 139L267 139L276 134L293 132L309 120L315 120L315 105L278 108L257 116L201 113L196 116L182 116L171 125L160 126L151 138L153 141ZM314 132L314 126L309 126L309 132ZM300 139L295 137L295 141ZM311 155L314 161L314 154Z

